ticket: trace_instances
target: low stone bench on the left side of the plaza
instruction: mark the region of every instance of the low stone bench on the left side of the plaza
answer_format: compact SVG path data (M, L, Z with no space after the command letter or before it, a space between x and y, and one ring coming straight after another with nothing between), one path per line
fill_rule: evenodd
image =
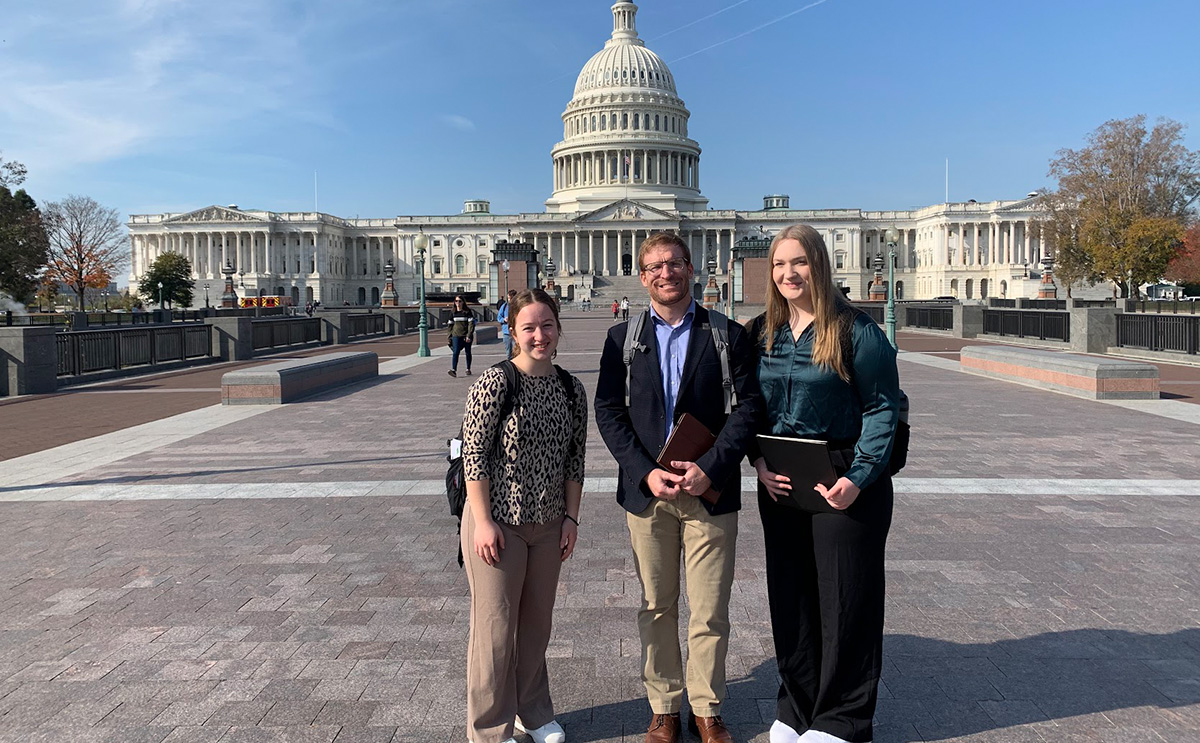
M289 359L226 372L221 377L221 403L282 405L378 376L379 356L371 352Z

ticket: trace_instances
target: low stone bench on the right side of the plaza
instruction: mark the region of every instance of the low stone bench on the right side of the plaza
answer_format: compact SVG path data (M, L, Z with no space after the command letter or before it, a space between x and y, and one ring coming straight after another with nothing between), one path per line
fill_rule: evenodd
M1158 400L1158 367L1153 364L1016 346L966 346L959 366L965 372L1090 400Z

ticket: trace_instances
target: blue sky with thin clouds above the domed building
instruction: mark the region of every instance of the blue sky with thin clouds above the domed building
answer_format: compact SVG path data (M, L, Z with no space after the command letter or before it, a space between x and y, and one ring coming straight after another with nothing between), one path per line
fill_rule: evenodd
M38 200L541 211L607 0L0 0L0 156ZM808 10L805 8L806 6ZM799 12L797 12L799 11ZM714 208L1019 198L1139 113L1200 149L1194 0L644 0Z

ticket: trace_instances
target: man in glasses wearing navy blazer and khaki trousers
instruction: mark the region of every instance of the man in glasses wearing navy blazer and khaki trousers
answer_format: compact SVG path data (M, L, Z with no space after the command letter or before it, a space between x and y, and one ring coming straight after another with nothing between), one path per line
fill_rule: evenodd
M637 629L642 681L653 718L647 743L674 743L680 735L684 689L692 732L703 743L731 741L721 721L730 592L742 508L740 463L755 431L758 385L751 342L728 323L728 361L737 407L725 413L725 389L709 312L691 299L691 254L679 236L650 235L638 250L638 272L650 295L630 373L625 405L628 323L610 329L596 383L596 426L620 466L617 502L626 514L634 562L642 583ZM684 413L716 435L695 462L655 460ZM720 493L715 503L701 496ZM679 648L679 557L688 577L688 671Z

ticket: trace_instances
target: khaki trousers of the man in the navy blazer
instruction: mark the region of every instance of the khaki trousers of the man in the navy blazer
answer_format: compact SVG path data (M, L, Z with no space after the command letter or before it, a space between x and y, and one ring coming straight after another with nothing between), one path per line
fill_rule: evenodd
M700 717L720 714L730 646L730 591L738 515L712 516L692 496L655 498L626 514L634 563L642 582L637 631L642 682L655 714L679 712L684 670L679 649L679 556L688 579L688 701Z

